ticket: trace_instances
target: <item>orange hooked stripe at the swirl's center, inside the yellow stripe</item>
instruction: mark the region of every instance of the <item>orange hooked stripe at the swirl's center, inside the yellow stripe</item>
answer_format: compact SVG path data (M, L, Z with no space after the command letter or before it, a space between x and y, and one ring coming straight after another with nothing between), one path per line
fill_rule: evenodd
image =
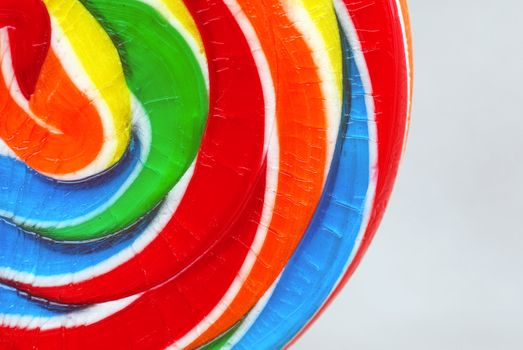
M62 132L50 132L36 123L12 99L0 76L0 137L28 166L46 174L68 174L90 164L104 139L97 110L80 92L52 50L42 67L29 106L47 125Z

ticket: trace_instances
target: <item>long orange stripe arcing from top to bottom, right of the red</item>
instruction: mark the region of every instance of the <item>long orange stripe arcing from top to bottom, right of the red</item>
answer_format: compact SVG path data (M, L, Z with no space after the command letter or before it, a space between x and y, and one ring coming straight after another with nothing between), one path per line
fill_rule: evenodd
M227 311L190 348L233 326L273 284L312 218L324 181L327 122L321 81L310 49L279 1L238 3L260 39L275 84L278 189L267 238L250 275ZM271 30L267 30L268 23Z

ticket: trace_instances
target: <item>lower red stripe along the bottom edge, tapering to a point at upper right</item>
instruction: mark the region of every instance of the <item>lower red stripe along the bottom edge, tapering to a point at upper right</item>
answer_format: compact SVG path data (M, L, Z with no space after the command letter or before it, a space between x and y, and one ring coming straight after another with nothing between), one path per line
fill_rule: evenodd
M15 349L53 350L57 344L78 350L165 348L202 321L232 284L258 228L264 192L262 176L226 239L189 270L122 311L85 327L50 331L0 327L2 341Z

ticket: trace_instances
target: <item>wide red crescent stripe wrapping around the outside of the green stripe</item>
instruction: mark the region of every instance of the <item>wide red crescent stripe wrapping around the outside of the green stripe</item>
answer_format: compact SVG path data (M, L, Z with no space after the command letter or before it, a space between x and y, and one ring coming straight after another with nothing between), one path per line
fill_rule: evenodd
M261 170L265 109L243 33L224 5L211 3L187 1L209 59L211 112L193 178L173 218L135 258L104 275L60 287L16 288L70 304L133 295L185 269L235 221Z

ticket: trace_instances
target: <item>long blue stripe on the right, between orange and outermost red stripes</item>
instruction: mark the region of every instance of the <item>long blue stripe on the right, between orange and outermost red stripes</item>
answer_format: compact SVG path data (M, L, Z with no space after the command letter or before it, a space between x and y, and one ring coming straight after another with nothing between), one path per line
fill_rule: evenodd
M323 197L274 293L235 349L287 344L332 292L360 232L369 187L369 120L365 90L343 34L342 43L342 127Z

